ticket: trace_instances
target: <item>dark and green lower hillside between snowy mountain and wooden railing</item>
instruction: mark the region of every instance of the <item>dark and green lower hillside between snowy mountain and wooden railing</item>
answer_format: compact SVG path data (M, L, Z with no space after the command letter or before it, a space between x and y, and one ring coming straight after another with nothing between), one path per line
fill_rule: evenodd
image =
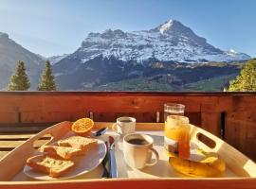
M229 80L239 73L243 62L210 62L182 64L173 67L147 69L143 76L105 81L91 85L86 91L223 91Z

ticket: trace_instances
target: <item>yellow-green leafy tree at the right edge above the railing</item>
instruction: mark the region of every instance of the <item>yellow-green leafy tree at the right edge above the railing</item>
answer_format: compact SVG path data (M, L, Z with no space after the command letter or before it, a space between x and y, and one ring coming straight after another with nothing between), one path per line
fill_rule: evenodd
M240 76L229 82L229 92L256 92L256 59L247 60Z

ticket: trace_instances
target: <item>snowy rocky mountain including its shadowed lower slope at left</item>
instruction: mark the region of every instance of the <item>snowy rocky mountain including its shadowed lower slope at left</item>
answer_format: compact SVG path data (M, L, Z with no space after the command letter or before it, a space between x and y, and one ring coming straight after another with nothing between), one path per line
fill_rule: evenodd
M248 59L247 54L216 48L191 28L170 20L149 30L89 33L77 51L53 68L60 89L86 90L133 77L168 75L183 63Z

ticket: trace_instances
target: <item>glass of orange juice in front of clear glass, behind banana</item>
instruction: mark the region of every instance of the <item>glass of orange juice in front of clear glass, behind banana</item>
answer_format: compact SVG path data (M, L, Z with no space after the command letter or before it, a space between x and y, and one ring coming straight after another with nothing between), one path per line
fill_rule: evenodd
M164 146L174 156L190 158L190 120L183 115L168 115L164 128Z

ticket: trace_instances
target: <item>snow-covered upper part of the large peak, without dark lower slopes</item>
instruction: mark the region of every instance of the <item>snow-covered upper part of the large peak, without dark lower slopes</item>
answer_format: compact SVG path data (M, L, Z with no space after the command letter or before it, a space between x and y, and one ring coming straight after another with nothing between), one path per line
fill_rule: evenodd
M118 60L143 62L155 58L160 61L201 62L248 60L250 57L235 51L223 51L197 36L191 28L176 20L150 30L124 32L107 29L103 33L89 33L82 46L67 59L82 63L98 56Z

